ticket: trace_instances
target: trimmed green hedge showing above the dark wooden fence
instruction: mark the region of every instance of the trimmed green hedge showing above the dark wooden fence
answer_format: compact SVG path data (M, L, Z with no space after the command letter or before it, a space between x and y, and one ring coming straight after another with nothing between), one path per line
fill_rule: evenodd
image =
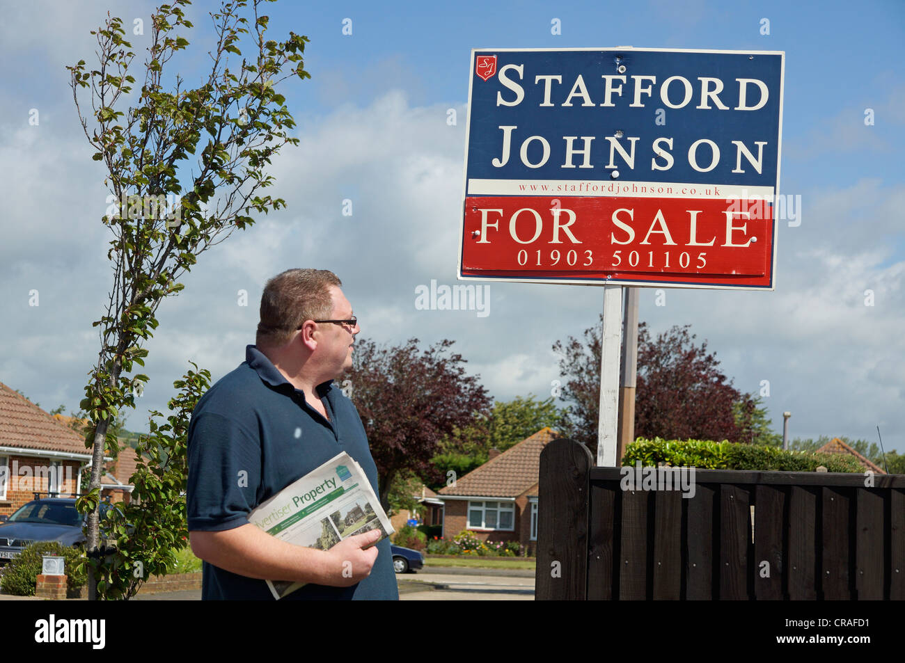
M753 469L785 472L813 472L823 465L830 472L862 473L853 456L835 453L786 451L778 447L737 444L723 440L663 440L638 438L625 449L623 465L643 466L666 463L673 467L700 469Z

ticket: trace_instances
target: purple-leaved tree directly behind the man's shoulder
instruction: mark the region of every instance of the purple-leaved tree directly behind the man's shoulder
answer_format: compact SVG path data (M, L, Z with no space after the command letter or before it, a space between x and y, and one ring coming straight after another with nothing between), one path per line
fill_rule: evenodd
M462 355L447 355L452 343L419 351L417 338L393 347L356 342L350 395L371 443L384 509L397 474L424 476L438 442L490 408L478 377L465 374Z

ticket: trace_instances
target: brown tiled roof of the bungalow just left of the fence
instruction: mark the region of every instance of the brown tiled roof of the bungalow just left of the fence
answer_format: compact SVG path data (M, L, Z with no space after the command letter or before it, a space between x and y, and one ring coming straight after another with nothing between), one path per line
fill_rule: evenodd
M543 428L529 438L488 460L480 468L472 469L455 482L440 490L439 497L468 495L481 497L518 497L538 483L540 452L556 431Z

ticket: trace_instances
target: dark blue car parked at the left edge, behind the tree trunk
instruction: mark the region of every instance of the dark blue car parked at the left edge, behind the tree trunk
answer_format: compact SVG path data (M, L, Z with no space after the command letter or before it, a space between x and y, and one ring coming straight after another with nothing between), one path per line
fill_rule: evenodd
M101 520L108 509L109 504L100 503ZM75 509L75 497L33 499L0 524L0 565L9 563L36 541L83 545L82 526L83 518Z

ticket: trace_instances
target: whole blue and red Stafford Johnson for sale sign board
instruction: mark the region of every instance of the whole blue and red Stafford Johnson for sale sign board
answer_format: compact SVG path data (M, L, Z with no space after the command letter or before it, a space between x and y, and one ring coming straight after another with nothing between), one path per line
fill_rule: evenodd
M474 50L459 276L773 289L783 52Z

